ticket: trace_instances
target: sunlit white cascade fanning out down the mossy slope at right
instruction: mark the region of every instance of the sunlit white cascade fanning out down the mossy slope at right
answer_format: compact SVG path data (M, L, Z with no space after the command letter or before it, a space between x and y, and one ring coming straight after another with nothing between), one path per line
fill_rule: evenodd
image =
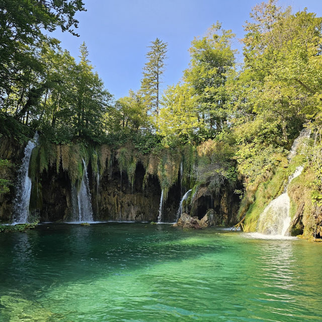
M294 140L288 160L290 161L296 154L296 150L303 139L309 138L311 131L303 129L300 135ZM272 200L261 213L257 231L263 234L285 236L288 233L291 218L289 216L290 198L287 194L287 187L293 179L298 177L303 171L303 166L296 168L293 175L289 176L283 193Z

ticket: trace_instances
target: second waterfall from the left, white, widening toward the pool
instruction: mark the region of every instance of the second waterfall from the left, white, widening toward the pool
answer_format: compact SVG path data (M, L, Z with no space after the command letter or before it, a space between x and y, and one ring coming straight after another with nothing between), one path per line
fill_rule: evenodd
M81 186L78 192L75 185L71 187L71 205L73 221L76 222L92 222L93 210L89 187L89 178L87 174L87 167L85 160L83 159L84 172L81 181Z

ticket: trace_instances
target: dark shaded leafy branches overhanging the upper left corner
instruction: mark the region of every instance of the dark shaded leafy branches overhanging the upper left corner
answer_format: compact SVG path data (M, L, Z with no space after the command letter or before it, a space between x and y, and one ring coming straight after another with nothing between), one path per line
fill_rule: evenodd
M21 79L26 66L33 66L35 46L46 37L43 29L60 27L77 35L77 11L85 11L82 0L2 0L0 2L0 96ZM28 68L27 68L28 69Z

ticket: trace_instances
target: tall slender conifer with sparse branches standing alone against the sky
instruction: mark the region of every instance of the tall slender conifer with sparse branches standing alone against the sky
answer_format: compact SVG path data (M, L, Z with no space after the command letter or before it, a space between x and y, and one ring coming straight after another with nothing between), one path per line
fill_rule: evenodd
M159 114L160 83L165 71L167 47L168 44L158 38L151 41L151 46L148 46L150 50L146 53L147 62L142 72L141 92L148 110L156 115Z

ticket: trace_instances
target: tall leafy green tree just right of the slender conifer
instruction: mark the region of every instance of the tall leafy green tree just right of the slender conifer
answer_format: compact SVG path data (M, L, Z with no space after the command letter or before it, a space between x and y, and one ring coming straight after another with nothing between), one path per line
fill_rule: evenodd
M220 131L227 119L225 83L234 70L236 50L230 44L234 36L217 22L205 37L195 38L190 48L190 68L185 71L184 81L198 97L198 118L208 127L210 136Z

